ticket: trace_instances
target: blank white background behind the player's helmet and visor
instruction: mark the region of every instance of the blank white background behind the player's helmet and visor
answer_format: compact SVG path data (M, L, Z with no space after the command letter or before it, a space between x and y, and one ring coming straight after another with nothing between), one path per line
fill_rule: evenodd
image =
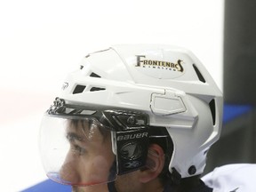
M69 70L111 44L190 49L222 90L223 0L0 0L1 191L45 180L44 110Z

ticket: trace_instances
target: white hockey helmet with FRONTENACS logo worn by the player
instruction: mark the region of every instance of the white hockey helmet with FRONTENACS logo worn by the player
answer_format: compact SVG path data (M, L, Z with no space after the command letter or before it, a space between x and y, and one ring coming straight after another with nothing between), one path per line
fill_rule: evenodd
M123 134L119 135L121 141L130 140L127 132L135 130L139 139L146 138L140 142L142 147L139 149L143 150L147 147L146 144L141 144L147 143L146 129L166 128L173 143L169 172L175 170L181 178L204 172L207 151L220 137L222 93L196 56L176 46L115 45L84 57L80 68L68 75L59 98L46 115L70 118L71 112L67 115L69 110L72 111L72 116L83 116L82 111L86 107L86 110L89 108L93 111L91 115L93 114L94 120L97 119L98 124L111 130L112 151L115 156L118 148L125 146L118 146L121 144L118 144L118 135L113 134L113 130ZM123 122L123 117L119 115L128 117L124 117ZM84 116L88 116L88 112ZM130 135L134 136L135 133ZM141 136L143 133L145 138ZM46 138L42 139L43 144L41 143L43 161L47 162L44 167L50 172L53 170L49 165L52 157L48 156L48 160L45 157L46 153L49 154L46 151L50 147L44 147L50 145L50 139L44 128L42 134L46 135L43 136ZM147 154L143 156L145 158ZM129 172L122 170L122 164L127 165L124 161L127 158L120 158L115 160L117 174ZM131 159L134 165L136 158L132 156ZM141 162L145 163L145 159Z

